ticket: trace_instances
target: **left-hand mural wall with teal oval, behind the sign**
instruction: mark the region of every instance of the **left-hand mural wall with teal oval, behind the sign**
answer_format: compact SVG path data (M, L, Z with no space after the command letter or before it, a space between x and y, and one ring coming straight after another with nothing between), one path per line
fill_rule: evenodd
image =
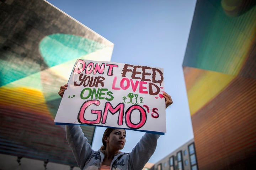
M0 2L0 153L75 165L53 120L77 58L110 61L113 43L44 0ZM82 126L92 143L95 128Z

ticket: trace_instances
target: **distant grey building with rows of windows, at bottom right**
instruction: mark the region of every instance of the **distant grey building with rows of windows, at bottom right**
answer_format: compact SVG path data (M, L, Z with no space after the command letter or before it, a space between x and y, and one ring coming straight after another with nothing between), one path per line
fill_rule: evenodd
M194 139L161 159L150 170L198 170Z

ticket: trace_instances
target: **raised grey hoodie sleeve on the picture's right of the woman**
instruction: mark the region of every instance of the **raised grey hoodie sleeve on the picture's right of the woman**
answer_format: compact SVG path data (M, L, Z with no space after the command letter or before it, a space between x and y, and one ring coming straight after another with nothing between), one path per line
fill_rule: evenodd
M137 145L130 152L128 166L132 170L143 169L156 149L158 134L145 133Z

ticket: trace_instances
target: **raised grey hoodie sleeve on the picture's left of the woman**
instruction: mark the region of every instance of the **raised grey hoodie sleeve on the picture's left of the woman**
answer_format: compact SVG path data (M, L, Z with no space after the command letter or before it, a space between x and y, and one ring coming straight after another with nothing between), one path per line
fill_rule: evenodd
M65 125L65 128L69 147L74 154L76 163L82 169L94 151L79 125Z

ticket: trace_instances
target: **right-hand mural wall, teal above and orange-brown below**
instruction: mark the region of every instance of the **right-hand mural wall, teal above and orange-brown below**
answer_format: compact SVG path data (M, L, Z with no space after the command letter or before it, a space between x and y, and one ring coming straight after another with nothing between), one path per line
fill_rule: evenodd
M256 161L255 4L197 0L183 72L200 170Z

